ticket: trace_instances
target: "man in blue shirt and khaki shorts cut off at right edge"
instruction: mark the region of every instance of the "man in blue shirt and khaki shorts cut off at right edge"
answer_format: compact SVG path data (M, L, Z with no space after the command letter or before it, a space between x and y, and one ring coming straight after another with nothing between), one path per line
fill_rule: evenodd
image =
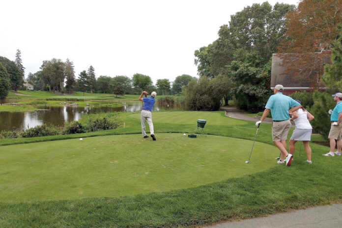
M341 149L342 149L342 93L336 93L332 95L334 97L334 101L336 102L336 106L334 110L330 113L330 132L329 132L329 140L330 140L330 152L323 154L324 156L335 156L340 155L341 156ZM337 140L337 152L335 151L335 146Z

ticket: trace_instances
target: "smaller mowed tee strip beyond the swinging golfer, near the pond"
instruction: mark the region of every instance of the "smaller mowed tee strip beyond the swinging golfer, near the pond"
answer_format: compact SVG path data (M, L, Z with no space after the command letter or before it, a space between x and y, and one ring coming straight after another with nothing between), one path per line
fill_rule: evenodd
M140 113L132 114L129 117L140 120ZM232 126L246 124L246 121L243 120L223 117L220 112L181 111L152 113L153 123L194 125L195 129L198 119L206 120L204 131L210 125Z

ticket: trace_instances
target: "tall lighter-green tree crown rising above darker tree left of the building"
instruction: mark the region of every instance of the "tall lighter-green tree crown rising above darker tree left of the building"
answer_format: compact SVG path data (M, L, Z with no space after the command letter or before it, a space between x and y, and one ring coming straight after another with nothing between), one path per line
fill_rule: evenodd
M195 51L199 76L212 78L227 74L230 62L244 61L246 54L252 51L259 56L259 66L263 67L284 39L285 15L293 9L294 5L276 3L272 7L264 2L232 15L229 26L220 27L216 41Z

